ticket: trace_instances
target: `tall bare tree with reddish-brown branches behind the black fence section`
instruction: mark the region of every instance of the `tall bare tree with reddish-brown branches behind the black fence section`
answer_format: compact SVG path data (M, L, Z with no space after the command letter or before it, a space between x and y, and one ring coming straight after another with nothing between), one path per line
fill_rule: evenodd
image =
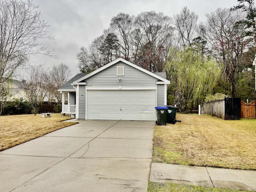
M236 94L236 83L243 70L243 55L248 48L248 37L244 36L245 24L238 22L244 15L239 11L218 8L206 14L208 38L218 64L223 65L223 75L230 83L232 97Z

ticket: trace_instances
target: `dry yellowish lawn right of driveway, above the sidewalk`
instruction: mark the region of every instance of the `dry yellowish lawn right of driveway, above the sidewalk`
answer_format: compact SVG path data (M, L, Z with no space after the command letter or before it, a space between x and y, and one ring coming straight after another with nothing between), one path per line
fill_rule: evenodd
M256 119L176 118L182 122L156 126L154 162L256 170Z

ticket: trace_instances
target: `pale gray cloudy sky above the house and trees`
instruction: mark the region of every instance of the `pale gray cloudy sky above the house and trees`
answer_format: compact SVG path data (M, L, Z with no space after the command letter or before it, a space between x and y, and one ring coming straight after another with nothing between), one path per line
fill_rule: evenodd
M194 11L200 21L205 21L205 14L217 8L230 8L237 5L237 0L33 0L39 5L41 19L50 28L49 35L55 40L46 41L54 47L59 59L48 56L32 58L34 64L44 64L50 68L63 62L70 66L72 75L79 73L76 54L80 47L87 47L94 38L108 28L113 16L123 12L137 16L144 11L163 12L167 16L180 13L184 6Z

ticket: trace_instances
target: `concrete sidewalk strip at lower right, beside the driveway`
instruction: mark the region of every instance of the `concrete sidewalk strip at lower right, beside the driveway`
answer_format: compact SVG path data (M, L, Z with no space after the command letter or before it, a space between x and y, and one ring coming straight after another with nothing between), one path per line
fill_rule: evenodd
M256 192L256 171L152 163L151 182Z

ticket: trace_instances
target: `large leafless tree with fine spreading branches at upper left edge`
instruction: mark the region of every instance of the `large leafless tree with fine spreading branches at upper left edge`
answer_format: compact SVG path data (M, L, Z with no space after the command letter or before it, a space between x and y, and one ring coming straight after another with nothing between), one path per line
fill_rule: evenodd
M47 35L49 25L40 20L39 6L32 0L1 0L0 3L0 82L16 68L26 64L33 54L52 55L52 50L38 40Z

